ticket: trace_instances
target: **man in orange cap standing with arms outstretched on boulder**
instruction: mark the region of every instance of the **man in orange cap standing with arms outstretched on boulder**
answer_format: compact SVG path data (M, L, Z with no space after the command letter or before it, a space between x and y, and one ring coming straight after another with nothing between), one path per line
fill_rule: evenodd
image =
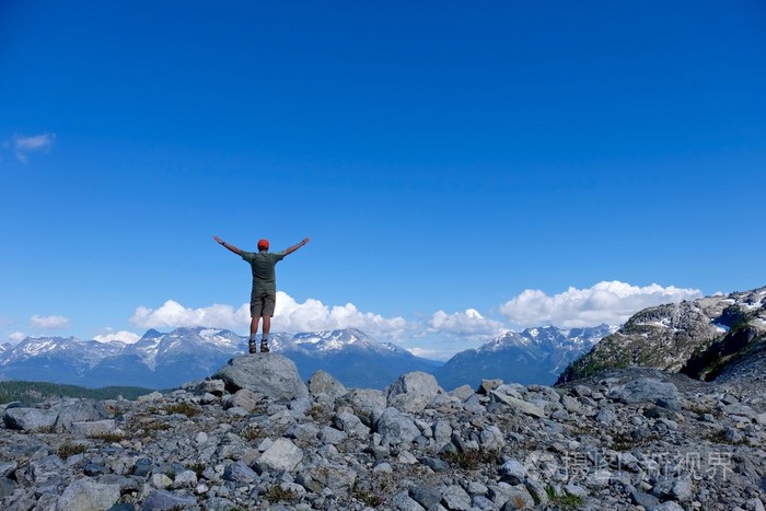
M255 336L258 333L258 323L264 318L264 329L260 336L260 352L268 353L268 334L271 330L271 316L277 304L277 276L275 267L288 254L292 254L306 243L304 237L301 243L292 245L282 252L270 253L268 240L258 240L258 252L245 252L234 245L224 242L218 236L212 236L219 244L229 248L234 254L242 256L249 263L253 269L253 291L249 297L249 352L255 353Z

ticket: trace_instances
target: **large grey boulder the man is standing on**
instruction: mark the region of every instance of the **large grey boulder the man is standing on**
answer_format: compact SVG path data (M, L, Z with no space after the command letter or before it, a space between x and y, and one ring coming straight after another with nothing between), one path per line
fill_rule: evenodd
M274 399L309 397L309 390L301 380L295 363L277 353L234 357L212 378L223 380L232 394L247 388L259 396Z

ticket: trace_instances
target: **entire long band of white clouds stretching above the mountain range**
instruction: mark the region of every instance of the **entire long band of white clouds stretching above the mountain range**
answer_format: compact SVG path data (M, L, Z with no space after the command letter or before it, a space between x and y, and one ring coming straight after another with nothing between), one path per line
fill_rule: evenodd
M476 348L510 329L547 324L564 328L601 323L622 325L641 309L700 297L701 292L696 289L599 282L589 289L569 288L555 295L526 290L501 305L502 316L498 317L486 317L475 309L466 309L454 313L440 310L426 320L406 321L398 316L384 317L363 312L352 303L330 306L315 299L299 303L278 291L271 330L299 333L359 328L376 340L395 341L417 356L446 360L459 351ZM206 326L245 334L249 325L249 306L242 304L235 309L213 304L192 309L169 300L158 309L137 307L130 322L139 328ZM101 339L97 337L96 340Z

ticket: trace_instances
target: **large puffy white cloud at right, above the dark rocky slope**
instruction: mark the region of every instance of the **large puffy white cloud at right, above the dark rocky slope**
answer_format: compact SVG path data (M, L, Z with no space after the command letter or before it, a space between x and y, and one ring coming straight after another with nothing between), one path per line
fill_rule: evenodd
M500 312L522 327L548 324L564 328L602 323L622 325L642 309L701 297L698 289L663 288L657 283L641 288L614 280L599 282L588 289L569 288L553 297L541 290L527 289L506 302Z

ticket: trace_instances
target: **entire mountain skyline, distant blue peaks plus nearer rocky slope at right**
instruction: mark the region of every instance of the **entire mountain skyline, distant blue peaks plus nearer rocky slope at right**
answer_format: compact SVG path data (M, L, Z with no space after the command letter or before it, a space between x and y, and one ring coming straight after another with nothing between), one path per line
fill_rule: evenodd
M619 328L509 332L446 362L416 357L355 328L277 333L270 344L272 351L292 359L306 380L324 370L349 387L383 388L402 374L422 371L450 391L489 379L567 383L627 367L712 380L762 349L765 339L766 287L648 307ZM0 380L174 388L213 373L246 349L245 337L201 327L150 329L135 344L27 337L15 346L0 346Z

